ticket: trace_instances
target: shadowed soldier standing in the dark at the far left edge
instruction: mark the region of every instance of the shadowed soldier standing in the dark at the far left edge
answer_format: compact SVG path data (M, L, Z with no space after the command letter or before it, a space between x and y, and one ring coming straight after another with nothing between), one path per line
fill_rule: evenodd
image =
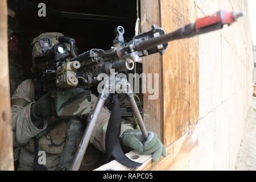
M25 80L22 67L17 63L17 58L21 53L20 40L22 36L19 22L16 19L17 11L16 1L8 1L8 53L11 96L19 84Z

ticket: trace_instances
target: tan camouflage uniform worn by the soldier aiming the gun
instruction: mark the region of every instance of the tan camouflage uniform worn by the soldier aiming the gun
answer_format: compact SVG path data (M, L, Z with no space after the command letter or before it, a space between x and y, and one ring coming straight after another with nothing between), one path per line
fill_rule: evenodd
M20 147L19 170L33 170L35 147L34 137L46 130L51 119L45 119L42 128L35 127L30 118L30 107L34 103L34 83L25 80L15 90L11 98L12 106L12 126L14 131L14 147ZM92 95L92 110L96 104L97 97ZM106 127L110 117L110 111L106 107L102 108L98 121L90 138L90 143L98 150L105 151ZM130 124L123 124L121 135L127 129L132 129ZM61 122L54 127L47 135L39 139L39 151L46 152L46 166L48 170L55 170L59 164L61 153L69 136L66 135L67 126ZM54 145L52 145L54 143ZM76 146L79 140L76 141ZM86 158L86 155L85 157ZM84 160L88 161L88 160ZM67 168L70 167L68 164ZM82 164L83 165L83 164ZM81 166L82 167L82 166Z

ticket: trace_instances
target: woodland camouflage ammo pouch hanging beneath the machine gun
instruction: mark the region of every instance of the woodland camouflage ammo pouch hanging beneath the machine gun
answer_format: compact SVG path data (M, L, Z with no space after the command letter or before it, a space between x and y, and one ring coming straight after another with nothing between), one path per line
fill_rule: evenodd
M90 90L84 88L59 89L55 94L55 111L57 117L81 117L90 113Z

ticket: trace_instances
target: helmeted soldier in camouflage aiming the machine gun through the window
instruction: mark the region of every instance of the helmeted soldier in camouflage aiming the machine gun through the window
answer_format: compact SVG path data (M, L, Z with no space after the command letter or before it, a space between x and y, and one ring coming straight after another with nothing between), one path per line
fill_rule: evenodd
M52 44L58 42L60 33L45 33L32 42L32 60L33 70L43 70L44 63L40 52L38 41L40 38L49 37ZM14 146L20 147L19 170L64 170L69 169L72 160L75 157L77 146L82 137L84 129L81 123L86 123L86 119L69 119L68 121L56 121L52 117L51 98L49 93L44 94L35 101L35 84L32 79L25 80L18 86L12 97L12 125L14 131ZM91 108L94 109L97 97L92 95ZM83 110L86 106L80 108L82 101L77 102L77 108L74 110ZM86 103L86 102L85 102ZM90 138L90 143L98 150L105 151L106 127L110 117L110 111L106 107L102 108L98 121ZM55 125L55 123L58 123ZM53 127L52 127L53 126ZM43 131L48 132L38 138ZM155 133L149 132L146 142L143 141L141 131L134 130L131 124L122 123L121 142L127 147L133 148L141 154L153 154L154 162L157 162L161 155L166 156L166 150ZM46 152L46 163L39 167L38 152ZM87 154L88 152L86 152ZM81 167L86 165L90 159L86 159ZM90 152L92 154L92 152Z

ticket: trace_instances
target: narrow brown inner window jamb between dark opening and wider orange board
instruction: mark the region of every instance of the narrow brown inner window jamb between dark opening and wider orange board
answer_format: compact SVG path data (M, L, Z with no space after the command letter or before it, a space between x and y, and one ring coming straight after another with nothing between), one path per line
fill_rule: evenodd
M151 30L151 26L160 26L159 0L141 0L141 24L142 32ZM143 94L143 118L147 129L155 131L160 139L163 139L163 109L162 109L162 59L159 54L143 58L143 73L157 73L158 99L148 100L148 93ZM153 77L154 78L154 77ZM153 79L154 82L154 79Z

